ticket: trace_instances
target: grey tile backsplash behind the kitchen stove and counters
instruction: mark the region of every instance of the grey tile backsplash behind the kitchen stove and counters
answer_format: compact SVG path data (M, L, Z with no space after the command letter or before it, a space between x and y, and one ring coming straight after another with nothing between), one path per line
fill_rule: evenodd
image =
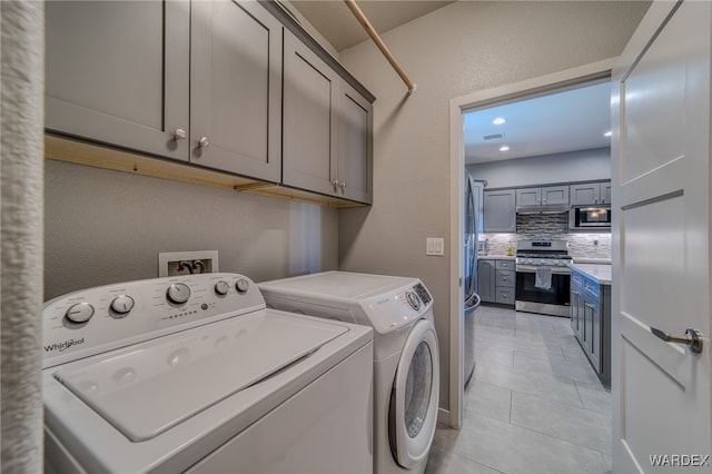
M531 238L567 240L573 258L611 258L611 233L570 233L567 213L517 214L516 234L483 234L479 241L490 241L488 255L506 255L510 243Z

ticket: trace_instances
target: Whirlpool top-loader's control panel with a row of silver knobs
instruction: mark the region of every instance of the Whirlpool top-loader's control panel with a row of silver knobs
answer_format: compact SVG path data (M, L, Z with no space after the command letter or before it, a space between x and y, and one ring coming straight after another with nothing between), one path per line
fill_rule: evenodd
M200 274L105 285L44 304L43 367L264 309L238 274Z

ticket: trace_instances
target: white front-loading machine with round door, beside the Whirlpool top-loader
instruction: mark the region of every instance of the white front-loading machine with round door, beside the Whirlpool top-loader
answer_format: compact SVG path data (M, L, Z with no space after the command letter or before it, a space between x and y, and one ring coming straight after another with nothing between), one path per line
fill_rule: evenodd
M374 472L425 471L439 393L433 297L417 278L326 271L258 284L268 307L374 328Z

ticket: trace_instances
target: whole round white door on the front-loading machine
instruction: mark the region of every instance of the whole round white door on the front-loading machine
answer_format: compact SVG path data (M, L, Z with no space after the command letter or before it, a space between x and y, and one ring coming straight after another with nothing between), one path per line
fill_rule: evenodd
M403 347L390 393L388 435L395 461L413 468L433 443L439 394L439 353L433 323L418 320Z

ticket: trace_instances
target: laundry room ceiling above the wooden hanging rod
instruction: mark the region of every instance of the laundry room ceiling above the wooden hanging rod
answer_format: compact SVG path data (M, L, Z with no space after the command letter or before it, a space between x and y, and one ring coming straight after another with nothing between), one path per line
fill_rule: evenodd
M354 13L338 0L290 0L314 28L336 49L358 45L368 39ZM426 0L357 0L368 21L378 33L392 30L418 17L427 14L452 1Z

